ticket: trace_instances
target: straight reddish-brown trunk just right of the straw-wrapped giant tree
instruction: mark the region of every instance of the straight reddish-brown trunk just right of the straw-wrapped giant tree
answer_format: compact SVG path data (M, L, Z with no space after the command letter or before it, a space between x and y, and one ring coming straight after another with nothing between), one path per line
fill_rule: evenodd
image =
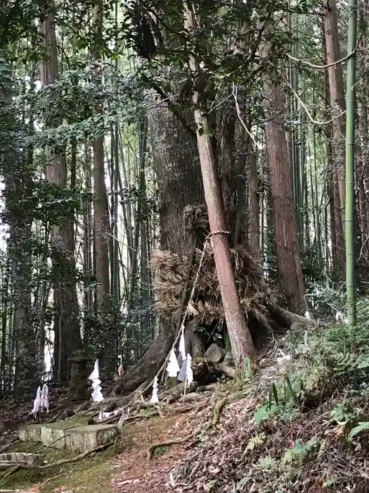
M268 46L265 45L262 50L263 56L266 56L267 49ZM271 76L266 77L264 92L266 149L271 173L280 291L287 299L288 308L294 313L302 314L306 311L305 289L297 239L292 173L282 120L285 98Z

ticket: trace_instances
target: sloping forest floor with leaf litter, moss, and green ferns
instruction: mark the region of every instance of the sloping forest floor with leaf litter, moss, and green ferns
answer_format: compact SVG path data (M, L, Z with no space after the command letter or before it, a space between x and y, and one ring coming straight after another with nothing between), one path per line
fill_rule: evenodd
M365 327L286 335L261 354L258 372L219 383L187 412L148 411L124 425L115 446L82 461L1 471L0 492L369 492Z

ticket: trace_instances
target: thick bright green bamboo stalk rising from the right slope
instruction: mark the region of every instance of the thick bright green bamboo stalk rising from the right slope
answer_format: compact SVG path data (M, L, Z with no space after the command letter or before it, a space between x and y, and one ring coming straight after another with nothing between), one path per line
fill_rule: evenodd
M347 53L352 54L347 63L346 92L346 289L347 318L349 327L356 325L355 297L355 79L356 79L356 25L357 0L349 0L349 24L347 28Z

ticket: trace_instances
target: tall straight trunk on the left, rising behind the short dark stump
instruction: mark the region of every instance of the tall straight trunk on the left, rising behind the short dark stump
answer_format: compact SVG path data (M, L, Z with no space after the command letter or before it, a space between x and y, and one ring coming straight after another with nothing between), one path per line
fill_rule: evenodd
M41 63L41 84L46 87L58 80L58 52L56 48L55 18L50 11L42 23L44 48L47 60ZM56 94L51 96L50 109L56 103ZM56 109L58 111L58 109ZM47 125L57 127L60 117L56 113L48 120ZM48 146L46 180L60 189L67 188L67 166L65 154L57 143ZM54 347L54 366L59 382L67 377L67 358L76 349L81 349L82 339L79 327L79 313L75 280L73 217L70 211L61 211L65 216L60 224L53 226L51 242L53 250L53 297L54 297L54 331L56 344ZM67 273L67 276L63 273Z

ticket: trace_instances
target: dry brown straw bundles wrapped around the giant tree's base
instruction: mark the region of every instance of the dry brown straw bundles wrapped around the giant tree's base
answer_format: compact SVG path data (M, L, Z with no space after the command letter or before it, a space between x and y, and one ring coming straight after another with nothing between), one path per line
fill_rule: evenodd
M196 250L188 282L188 293L193 289L201 256L202 251ZM268 308L276 304L276 297L266 285L260 264L242 248L232 249L231 258L235 284L245 315L247 318L257 320L264 327L269 327ZM151 266L157 312L164 318L177 320L181 310L182 290L186 282L188 257L159 250L153 254ZM189 309L196 323L221 325L224 321L214 254L209 245L205 251L200 277Z

